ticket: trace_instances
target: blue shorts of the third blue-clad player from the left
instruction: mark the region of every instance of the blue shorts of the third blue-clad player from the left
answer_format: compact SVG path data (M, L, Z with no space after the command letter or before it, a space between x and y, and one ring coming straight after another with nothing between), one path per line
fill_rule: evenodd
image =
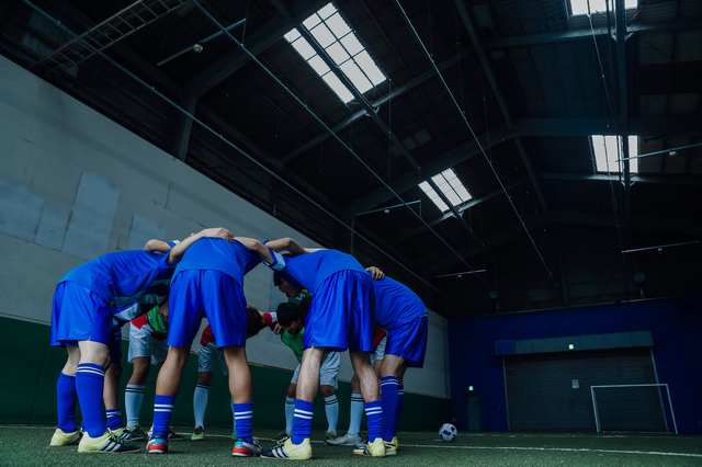
M328 352L373 352L373 304L371 276L340 271L317 287L305 321L305 349Z

